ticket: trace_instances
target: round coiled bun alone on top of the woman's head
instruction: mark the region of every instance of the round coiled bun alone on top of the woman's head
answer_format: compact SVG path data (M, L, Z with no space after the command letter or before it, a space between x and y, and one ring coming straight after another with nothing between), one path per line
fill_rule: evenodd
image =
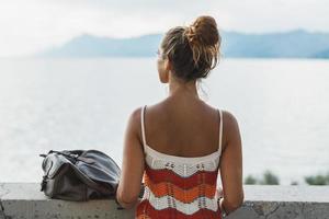
M192 44L213 46L219 41L219 33L214 18L198 16L193 24L186 27L185 36Z

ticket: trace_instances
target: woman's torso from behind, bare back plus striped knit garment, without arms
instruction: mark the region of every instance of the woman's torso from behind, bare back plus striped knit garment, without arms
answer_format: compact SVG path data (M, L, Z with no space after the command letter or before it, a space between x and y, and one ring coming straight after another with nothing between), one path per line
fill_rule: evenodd
M141 110L145 193L136 217L220 218L222 111L168 102Z

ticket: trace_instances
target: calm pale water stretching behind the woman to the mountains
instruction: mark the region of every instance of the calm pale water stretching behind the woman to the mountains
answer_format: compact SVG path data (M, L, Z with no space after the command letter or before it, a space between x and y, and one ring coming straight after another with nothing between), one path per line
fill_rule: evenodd
M226 59L202 88L239 122L245 176L329 171L329 61ZM99 149L121 165L127 116L167 93L151 58L0 60L0 182L39 182L50 149Z

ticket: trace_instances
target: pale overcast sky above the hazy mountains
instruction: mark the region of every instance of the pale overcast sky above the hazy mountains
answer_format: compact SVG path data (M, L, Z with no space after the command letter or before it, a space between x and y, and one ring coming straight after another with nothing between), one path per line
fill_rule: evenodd
M88 33L132 37L203 14L243 33L329 33L329 0L0 0L0 57L24 56Z

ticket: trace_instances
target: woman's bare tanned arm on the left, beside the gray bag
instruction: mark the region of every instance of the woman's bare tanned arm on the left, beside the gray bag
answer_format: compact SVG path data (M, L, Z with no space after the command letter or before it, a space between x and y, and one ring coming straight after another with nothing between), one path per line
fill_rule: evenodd
M133 208L138 203L144 174L144 151L140 142L140 110L129 116L123 150L121 178L116 200L124 208Z

